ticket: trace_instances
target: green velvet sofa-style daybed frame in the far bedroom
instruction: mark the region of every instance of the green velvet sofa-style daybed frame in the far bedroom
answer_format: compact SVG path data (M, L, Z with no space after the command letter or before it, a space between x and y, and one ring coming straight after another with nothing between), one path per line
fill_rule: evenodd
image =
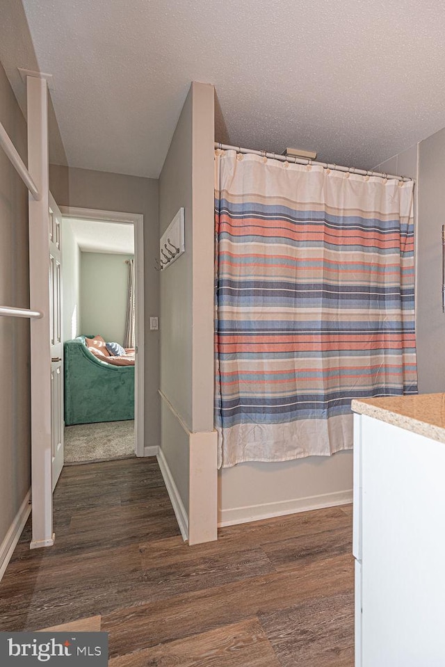
M134 366L102 362L88 350L85 338L63 345L65 426L134 419Z

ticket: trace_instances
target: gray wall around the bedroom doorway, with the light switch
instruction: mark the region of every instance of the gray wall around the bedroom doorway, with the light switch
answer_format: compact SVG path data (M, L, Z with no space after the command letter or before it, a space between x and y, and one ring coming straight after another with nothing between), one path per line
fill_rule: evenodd
M88 169L49 166L49 186L59 206L138 213L144 216L145 291L145 447L159 445L159 331L149 316L159 314L158 181Z

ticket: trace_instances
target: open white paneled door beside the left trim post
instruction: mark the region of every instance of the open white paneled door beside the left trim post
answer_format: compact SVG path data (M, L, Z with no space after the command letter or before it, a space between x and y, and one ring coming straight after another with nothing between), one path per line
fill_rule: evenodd
M52 486L63 468L62 214L49 194L49 344L51 346Z

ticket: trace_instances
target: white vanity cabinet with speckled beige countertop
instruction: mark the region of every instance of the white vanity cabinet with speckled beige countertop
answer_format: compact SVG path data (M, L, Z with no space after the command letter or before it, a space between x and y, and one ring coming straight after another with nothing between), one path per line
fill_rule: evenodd
M353 402L374 415L354 415L355 667L445 666L445 424L403 400Z

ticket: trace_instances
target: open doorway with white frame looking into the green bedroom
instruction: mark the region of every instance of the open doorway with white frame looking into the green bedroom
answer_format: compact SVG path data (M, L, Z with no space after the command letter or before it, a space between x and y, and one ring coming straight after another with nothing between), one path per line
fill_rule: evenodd
M143 216L60 210L66 463L149 456L143 419ZM134 320L126 330L131 287ZM83 400L81 383L86 373L88 386L88 369L92 378Z

